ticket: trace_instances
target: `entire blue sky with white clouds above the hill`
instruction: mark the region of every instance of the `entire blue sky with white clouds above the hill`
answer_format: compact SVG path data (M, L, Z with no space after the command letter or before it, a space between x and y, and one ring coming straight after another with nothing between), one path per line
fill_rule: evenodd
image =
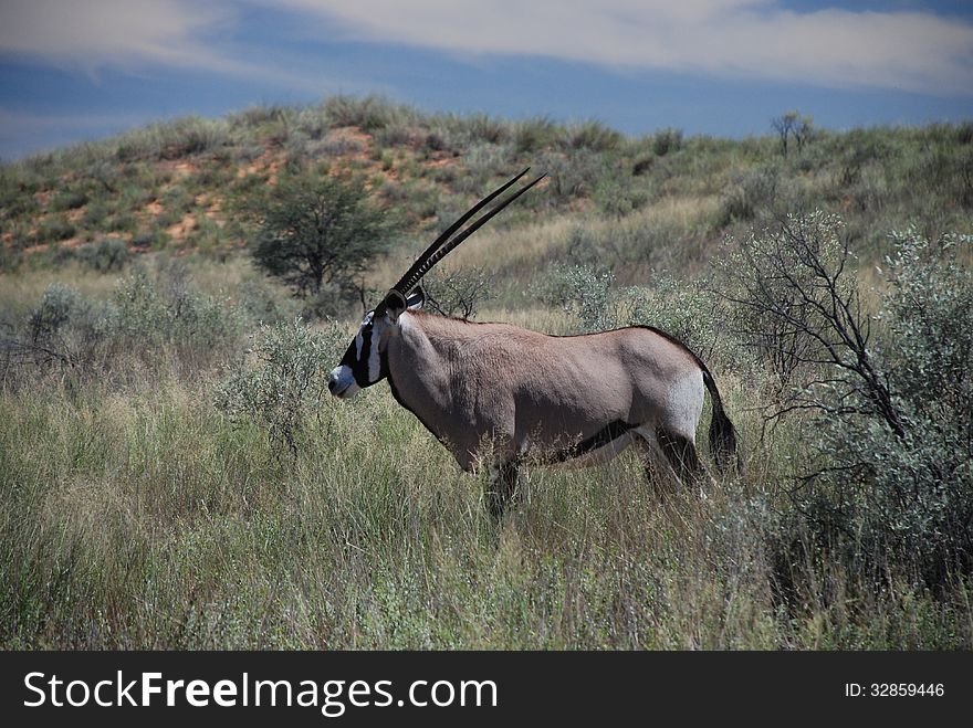
M971 0L0 0L0 159L377 94L631 135L973 119Z

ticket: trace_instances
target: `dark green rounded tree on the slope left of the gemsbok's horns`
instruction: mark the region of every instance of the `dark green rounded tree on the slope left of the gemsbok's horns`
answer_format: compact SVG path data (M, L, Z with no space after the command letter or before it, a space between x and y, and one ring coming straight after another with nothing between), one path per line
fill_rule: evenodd
M254 263L304 298L323 286L347 295L355 276L388 250L388 215L358 180L295 176L281 180L260 211Z

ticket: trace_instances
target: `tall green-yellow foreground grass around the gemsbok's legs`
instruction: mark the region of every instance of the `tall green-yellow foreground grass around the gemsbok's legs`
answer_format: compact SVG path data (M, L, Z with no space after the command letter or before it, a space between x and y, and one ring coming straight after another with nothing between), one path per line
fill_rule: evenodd
M295 463L218 415L206 381L51 382L4 397L0 422L7 648L970 647L964 588L782 611L749 510L774 465L755 456L749 483L665 508L625 455L529 469L496 531L483 478L385 387L323 401Z

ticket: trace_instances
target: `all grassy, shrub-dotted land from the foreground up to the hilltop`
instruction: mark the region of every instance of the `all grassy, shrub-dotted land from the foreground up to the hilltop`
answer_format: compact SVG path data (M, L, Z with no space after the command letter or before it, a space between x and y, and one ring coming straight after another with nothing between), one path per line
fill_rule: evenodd
M3 165L0 645L970 648L973 126L806 130L338 97ZM360 305L247 255L279 179L357 175L401 231L375 300L527 163L550 181L431 285L683 338L745 463L704 498L625 454L527 467L493 524L385 384L327 397Z

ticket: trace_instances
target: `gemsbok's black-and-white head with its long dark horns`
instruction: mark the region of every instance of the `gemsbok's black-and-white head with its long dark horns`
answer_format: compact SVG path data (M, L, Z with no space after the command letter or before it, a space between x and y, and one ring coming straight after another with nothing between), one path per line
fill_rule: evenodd
M365 318L362 319L362 325L358 327L358 333L348 346L347 351L345 351L345 356L342 357L341 362L332 370L328 377L327 389L332 394L338 398L353 397L358 390L370 387L388 376L388 365L384 357L385 347L389 336L399 326L401 314L405 310L416 310L422 307L425 294L422 288L418 287L422 276L446 257L450 251L479 230L488 220L545 177L542 175L529 184L525 184L506 199L496 203L490 211L471 223L462 232L458 233L460 228L469 222L473 215L510 189L529 170L530 167L488 194L444 230L412 263L399 282L389 288L383 302L374 310L365 314Z

